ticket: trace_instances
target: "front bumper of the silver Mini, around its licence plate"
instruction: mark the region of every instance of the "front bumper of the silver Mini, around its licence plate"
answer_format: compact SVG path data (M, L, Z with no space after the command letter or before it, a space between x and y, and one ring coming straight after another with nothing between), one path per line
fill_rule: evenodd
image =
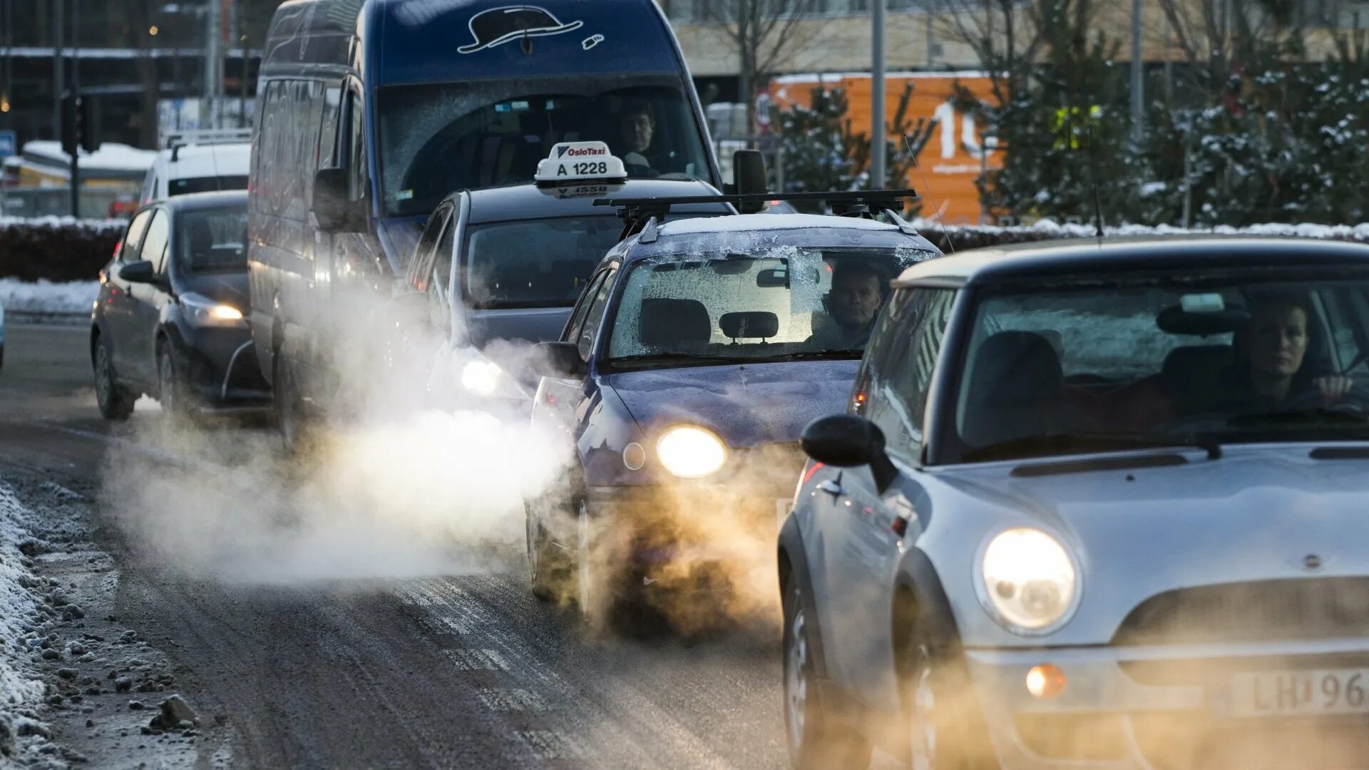
M1348 767L1369 745L1365 714L1239 717L1238 673L1369 669L1369 640L1190 647L967 649L979 707L1003 767ZM1053 700L1027 671L1060 667Z

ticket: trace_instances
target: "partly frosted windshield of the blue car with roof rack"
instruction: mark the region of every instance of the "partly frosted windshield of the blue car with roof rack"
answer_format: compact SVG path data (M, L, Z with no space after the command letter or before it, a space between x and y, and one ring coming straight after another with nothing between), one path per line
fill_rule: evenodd
M890 281L927 258L894 248L773 247L631 267L613 319L615 366L701 359L860 358Z

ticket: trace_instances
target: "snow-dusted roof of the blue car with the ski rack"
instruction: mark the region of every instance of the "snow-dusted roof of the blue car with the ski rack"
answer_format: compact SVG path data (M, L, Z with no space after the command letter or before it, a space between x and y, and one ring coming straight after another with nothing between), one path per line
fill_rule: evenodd
M652 240L634 236L615 252L624 260L667 253L754 247L910 248L939 253L910 227L857 216L823 214L738 214L678 219L661 225ZM609 258L615 255L611 253Z

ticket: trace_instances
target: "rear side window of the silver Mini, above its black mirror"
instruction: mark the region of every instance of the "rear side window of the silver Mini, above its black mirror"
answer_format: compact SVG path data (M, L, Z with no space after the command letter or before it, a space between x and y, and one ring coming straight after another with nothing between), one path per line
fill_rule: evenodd
M865 386L865 418L884 432L890 454L908 462L917 462L923 448L927 393L954 300L953 289L912 289L899 297L901 307L888 315L898 314L901 323L882 334L890 345L876 351L883 355Z

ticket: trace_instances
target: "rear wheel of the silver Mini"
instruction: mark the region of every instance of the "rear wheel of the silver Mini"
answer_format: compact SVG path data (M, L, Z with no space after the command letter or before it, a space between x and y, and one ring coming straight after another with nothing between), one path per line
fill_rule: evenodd
M795 770L869 767L871 748L852 726L832 717L817 688L817 619L804 601L797 577L784 586L784 736Z

